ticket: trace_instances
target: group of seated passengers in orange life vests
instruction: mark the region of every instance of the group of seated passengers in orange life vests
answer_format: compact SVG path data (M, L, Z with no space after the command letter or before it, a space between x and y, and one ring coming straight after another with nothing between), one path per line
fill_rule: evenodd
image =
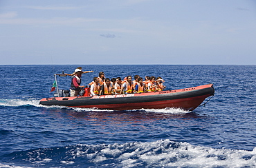
M104 72L100 72L89 85L91 85L91 96L95 96L161 91L165 88L164 82L161 77L155 78L155 76L146 76L143 81L143 78L138 75L134 76L134 81L131 80L131 76L127 76L123 81L120 77L110 80L104 77Z

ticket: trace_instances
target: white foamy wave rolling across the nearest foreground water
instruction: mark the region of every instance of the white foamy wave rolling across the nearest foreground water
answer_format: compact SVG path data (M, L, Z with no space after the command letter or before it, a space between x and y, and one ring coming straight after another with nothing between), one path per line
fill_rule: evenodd
M213 149L157 140L31 149L3 158L19 166L32 167L255 167L256 148L253 151Z

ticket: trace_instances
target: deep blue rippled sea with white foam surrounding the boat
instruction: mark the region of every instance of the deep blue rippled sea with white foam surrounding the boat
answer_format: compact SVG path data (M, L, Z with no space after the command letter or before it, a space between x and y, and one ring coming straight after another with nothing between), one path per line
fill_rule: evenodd
M53 74L77 66L95 71L83 85L103 71L162 76L167 90L213 83L215 95L192 112L39 105ZM0 65L0 76L0 167L256 167L256 65Z

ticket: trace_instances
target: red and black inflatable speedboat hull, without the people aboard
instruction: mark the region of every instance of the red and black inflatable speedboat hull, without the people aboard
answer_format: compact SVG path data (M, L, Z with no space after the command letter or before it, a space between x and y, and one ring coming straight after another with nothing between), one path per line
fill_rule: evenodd
M58 93L58 97L42 98L39 104L113 110L174 107L192 111L201 105L205 98L214 95L212 84L180 90L102 96L89 96L89 88L84 90L83 96L64 96L65 92L62 92L61 96Z

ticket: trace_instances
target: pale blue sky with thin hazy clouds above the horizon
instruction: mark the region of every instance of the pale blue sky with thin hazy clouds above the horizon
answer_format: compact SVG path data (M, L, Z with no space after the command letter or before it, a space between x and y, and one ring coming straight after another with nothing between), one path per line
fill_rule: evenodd
M0 0L0 65L256 65L255 0Z

